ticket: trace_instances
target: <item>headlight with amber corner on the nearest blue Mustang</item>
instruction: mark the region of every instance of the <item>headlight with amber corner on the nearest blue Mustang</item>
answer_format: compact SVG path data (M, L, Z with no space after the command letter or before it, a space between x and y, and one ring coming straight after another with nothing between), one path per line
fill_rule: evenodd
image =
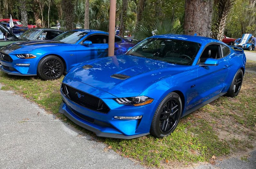
M118 104L127 104L133 106L141 106L150 104L154 99L147 96L136 96L136 97L121 97L114 99Z

